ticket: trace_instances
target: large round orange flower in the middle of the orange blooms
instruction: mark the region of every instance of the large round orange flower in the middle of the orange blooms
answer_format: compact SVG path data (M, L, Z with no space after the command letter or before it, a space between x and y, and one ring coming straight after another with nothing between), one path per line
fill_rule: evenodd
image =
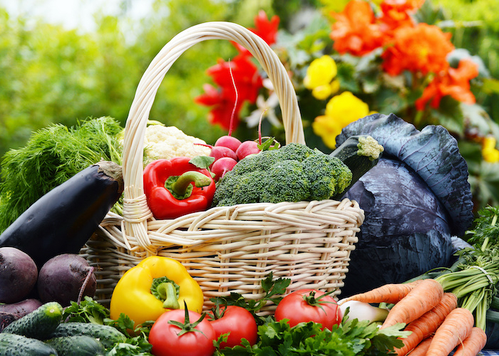
M446 56L454 49L451 33L437 26L419 23L414 27L401 27L393 33L393 44L381 55L383 69L390 75L403 70L423 74L447 70Z

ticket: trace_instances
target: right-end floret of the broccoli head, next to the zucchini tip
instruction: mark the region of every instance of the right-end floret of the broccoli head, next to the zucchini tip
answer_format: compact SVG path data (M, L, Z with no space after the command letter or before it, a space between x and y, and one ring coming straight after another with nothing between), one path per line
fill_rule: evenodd
M310 200L329 199L343 192L351 182L351 170L339 158L317 152L302 165L310 180Z

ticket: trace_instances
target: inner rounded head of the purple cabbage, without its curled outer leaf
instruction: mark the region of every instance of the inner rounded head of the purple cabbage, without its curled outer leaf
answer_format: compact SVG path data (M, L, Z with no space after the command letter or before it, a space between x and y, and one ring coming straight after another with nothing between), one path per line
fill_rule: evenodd
M405 163L382 157L345 197L359 202L366 219L351 251L342 296L401 283L451 264L446 210Z

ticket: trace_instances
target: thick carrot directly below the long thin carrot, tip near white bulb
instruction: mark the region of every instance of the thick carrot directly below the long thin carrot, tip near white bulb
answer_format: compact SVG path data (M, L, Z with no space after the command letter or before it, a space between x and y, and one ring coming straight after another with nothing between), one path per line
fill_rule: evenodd
M381 329L397 323L411 323L428 310L435 308L442 297L442 285L434 279L424 279L396 305L393 305L383 325L381 325Z

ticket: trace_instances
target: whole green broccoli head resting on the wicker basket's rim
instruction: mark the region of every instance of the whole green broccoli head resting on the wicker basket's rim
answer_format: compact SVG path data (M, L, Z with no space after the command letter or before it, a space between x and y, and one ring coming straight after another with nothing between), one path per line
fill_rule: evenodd
M237 162L217 183L213 206L329 199L350 182L351 171L340 159L288 144Z

